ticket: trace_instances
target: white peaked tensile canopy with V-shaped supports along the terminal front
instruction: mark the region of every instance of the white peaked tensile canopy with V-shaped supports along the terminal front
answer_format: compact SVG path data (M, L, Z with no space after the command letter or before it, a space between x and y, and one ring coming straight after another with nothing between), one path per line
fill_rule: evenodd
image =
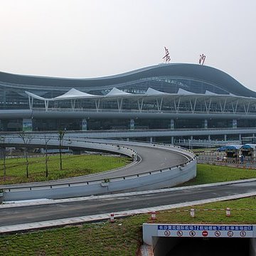
M194 112L196 110L197 104L203 104L206 108L206 112L210 111L210 107L213 104L219 105L222 112L225 112L225 108L228 104L232 105L233 111L235 112L238 102L240 103L240 105L243 105L246 113L248 112L250 105L254 104L256 106L255 98L239 97L235 95L217 95L207 90L205 94L198 94L188 92L181 88L178 89L177 93L167 93L160 92L149 87L144 94L132 94L129 92L119 90L116 87L113 87L112 90L110 90L110 92L107 93L107 95L91 95L89 93L76 90L75 88L71 88L70 90L68 90L68 92L65 92L63 95L53 98L41 97L33 94L32 92L26 92L26 94L28 95L30 109L33 108L33 100L36 99L45 102L46 111L48 111L49 102L63 100L71 101L72 110L75 110L76 100L95 101L95 108L97 112L100 111L100 108L102 107L100 103L103 101L116 101L118 111L121 112L125 100L137 102L136 104L138 106L139 112L141 112L142 109L144 108L144 104L151 105L155 103L158 111L161 111L162 105L167 104L169 106L174 105L176 112L179 111L179 109L182 107L182 104L183 106L190 106L191 112ZM53 107L53 110L55 110L55 107Z

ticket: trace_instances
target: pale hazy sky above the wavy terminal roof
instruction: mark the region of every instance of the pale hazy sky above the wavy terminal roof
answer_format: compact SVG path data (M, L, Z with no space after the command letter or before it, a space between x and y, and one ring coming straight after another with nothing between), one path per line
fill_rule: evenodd
M0 0L0 70L93 78L210 65L256 90L256 0Z

